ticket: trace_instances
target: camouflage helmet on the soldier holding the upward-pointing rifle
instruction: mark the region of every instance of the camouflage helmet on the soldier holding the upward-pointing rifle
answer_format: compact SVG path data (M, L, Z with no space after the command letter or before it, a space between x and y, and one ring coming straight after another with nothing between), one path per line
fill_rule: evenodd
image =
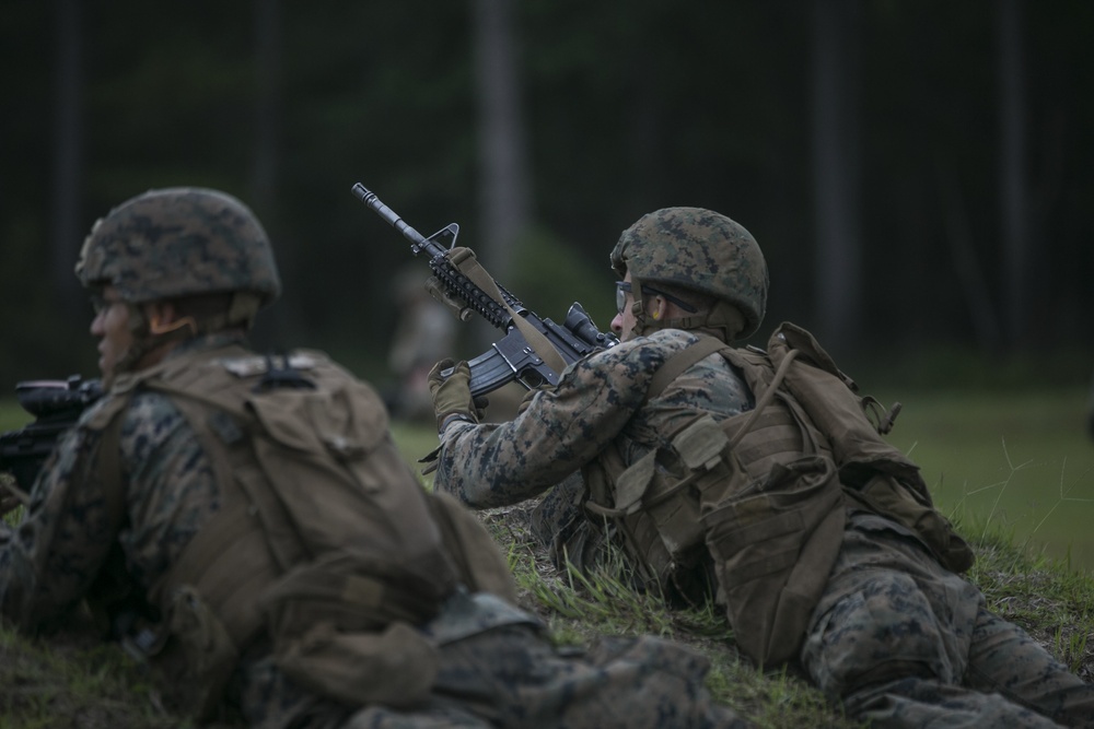
M767 310L767 261L752 234L702 208L664 208L622 232L612 268L640 283L671 283L709 294L744 316L740 337L756 332Z

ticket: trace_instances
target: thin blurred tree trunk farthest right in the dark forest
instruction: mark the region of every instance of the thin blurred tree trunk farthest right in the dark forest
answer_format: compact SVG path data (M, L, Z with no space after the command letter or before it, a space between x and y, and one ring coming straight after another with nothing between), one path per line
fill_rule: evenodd
M1003 245L1003 343L1013 351L1029 341L1036 281L1026 189L1025 59L1020 0L997 8L999 74L999 201Z

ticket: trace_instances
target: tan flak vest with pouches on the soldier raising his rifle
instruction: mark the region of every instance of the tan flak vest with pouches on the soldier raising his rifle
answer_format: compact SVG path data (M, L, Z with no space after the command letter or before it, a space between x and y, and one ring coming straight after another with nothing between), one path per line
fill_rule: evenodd
M741 649L772 666L801 650L849 509L910 530L954 572L971 566L919 468L882 438L898 407L886 414L857 395L804 329L782 324L766 352L701 334L662 365L648 399L715 352L755 408L699 415L630 465L609 447L583 470L586 513L620 534L648 584L700 605L714 592Z

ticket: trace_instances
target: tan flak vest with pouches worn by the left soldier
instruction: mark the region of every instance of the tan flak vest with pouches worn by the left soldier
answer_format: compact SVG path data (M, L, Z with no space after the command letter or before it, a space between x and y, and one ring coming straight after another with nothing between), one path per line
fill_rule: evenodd
M212 466L220 510L149 591L162 622L129 636L212 716L240 656L268 642L299 684L349 704L412 705L437 674L416 630L458 590L515 603L504 557L454 499L428 493L364 383L323 353L241 346L119 378L91 430L112 520L125 519L121 423L138 391L171 399Z

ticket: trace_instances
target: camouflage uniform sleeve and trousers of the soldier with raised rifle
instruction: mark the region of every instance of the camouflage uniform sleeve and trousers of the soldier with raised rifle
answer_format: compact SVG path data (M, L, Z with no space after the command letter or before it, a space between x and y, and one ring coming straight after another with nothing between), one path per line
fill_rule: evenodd
M740 373L717 353L647 400L656 371L696 340L678 329L647 330L571 365L511 422L449 422L435 486L484 508L561 482L534 518L548 543L570 550L568 558L583 556L574 552L596 541L587 534L598 536L602 521L582 513L589 494L573 477L579 469L609 447L633 465L698 414L721 422L754 408ZM831 699L876 726L1094 726L1094 687L987 611L980 591L943 568L916 532L852 505L847 512L800 655ZM709 572L711 562L706 554L695 569Z

